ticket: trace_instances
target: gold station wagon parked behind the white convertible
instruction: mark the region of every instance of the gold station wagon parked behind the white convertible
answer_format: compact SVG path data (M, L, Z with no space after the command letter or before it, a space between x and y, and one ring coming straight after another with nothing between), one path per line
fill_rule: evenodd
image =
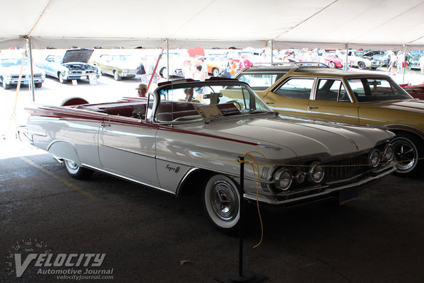
M251 67L236 79L281 72L254 90L273 110L308 119L385 126L393 140L397 173L420 173L424 157L424 101L412 98L386 74L322 67Z

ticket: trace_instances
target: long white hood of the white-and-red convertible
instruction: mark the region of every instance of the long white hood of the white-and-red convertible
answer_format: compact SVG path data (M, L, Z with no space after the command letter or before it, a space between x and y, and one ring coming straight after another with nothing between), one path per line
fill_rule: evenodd
M370 149L378 141L394 136L385 129L375 127L300 119L285 120L281 117L252 117L240 120L229 118L225 121L215 120L205 124L200 132L257 143L259 147L292 151L295 156L309 156L317 153L331 156L353 154ZM225 117L220 118L220 120L224 119Z

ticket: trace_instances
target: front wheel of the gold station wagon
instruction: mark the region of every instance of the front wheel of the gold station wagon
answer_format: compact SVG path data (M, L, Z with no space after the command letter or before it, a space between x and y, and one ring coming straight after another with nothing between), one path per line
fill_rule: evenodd
M394 146L394 159L396 161L396 174L409 175L418 167L420 156L420 141L407 134L399 134L391 141Z

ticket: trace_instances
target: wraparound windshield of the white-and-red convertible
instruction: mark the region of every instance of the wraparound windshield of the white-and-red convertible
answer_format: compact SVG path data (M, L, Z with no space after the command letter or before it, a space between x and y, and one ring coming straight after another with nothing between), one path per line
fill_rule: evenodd
M211 120L228 115L272 112L245 83L178 83L158 88L156 122Z

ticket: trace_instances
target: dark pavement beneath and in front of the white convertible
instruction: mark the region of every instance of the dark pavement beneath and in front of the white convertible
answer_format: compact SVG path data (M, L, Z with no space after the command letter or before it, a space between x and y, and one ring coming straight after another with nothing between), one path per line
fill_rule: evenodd
M263 212L264 241L252 248L260 229L249 221L244 266L266 282L423 282L423 180L389 175L344 207ZM23 262L43 250L105 253L92 269L113 269L113 279L81 282L216 282L238 267L238 239L213 228L199 197L101 173L75 180L42 151L0 159L0 239L0 282L63 281L35 262L16 277L9 254Z

